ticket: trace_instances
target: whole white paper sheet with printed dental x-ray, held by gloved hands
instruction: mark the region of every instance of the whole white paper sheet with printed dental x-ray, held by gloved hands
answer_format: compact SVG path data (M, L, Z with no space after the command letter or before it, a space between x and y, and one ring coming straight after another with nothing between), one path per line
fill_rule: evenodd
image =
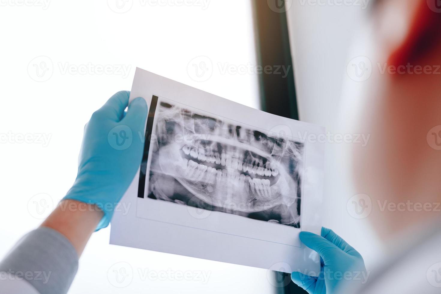
M137 69L149 106L140 170L111 243L282 272L318 272L325 130ZM121 209L123 211L123 209Z

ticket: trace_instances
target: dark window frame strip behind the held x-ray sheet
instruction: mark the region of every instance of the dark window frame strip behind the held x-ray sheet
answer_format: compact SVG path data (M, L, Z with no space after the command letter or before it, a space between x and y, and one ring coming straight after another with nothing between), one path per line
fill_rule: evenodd
M277 1L277 4L284 5L283 0L270 1ZM289 68L289 71L286 77L283 77L283 74L265 72L259 74L261 109L275 115L299 120L286 12L271 10L268 3L265 0L252 0L257 63L262 68L271 66L274 70L278 66L283 66L285 69ZM274 272L274 275L276 281L280 281L280 287L276 287L277 293L307 293L291 281L290 274ZM284 286L286 281L289 283Z

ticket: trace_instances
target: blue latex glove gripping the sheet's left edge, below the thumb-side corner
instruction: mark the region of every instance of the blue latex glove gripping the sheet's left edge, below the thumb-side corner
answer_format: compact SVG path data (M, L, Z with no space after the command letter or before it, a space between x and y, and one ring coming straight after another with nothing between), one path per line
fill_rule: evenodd
M113 95L84 128L78 174L64 199L95 204L104 212L97 230L107 227L141 164L147 104L128 91Z

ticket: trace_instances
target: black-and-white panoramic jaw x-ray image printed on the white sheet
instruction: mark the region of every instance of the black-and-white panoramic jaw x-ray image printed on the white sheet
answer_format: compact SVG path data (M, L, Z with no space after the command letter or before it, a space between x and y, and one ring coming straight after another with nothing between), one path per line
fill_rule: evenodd
M156 115L149 198L300 227L303 143L164 102Z

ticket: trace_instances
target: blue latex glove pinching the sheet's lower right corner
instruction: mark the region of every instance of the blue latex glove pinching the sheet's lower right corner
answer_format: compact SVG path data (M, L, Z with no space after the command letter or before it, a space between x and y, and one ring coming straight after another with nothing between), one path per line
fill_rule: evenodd
M300 240L321 257L318 277L301 272L291 274L292 281L309 294L355 293L349 289L366 283L369 275L363 257L332 230L321 228L321 236L301 232Z

